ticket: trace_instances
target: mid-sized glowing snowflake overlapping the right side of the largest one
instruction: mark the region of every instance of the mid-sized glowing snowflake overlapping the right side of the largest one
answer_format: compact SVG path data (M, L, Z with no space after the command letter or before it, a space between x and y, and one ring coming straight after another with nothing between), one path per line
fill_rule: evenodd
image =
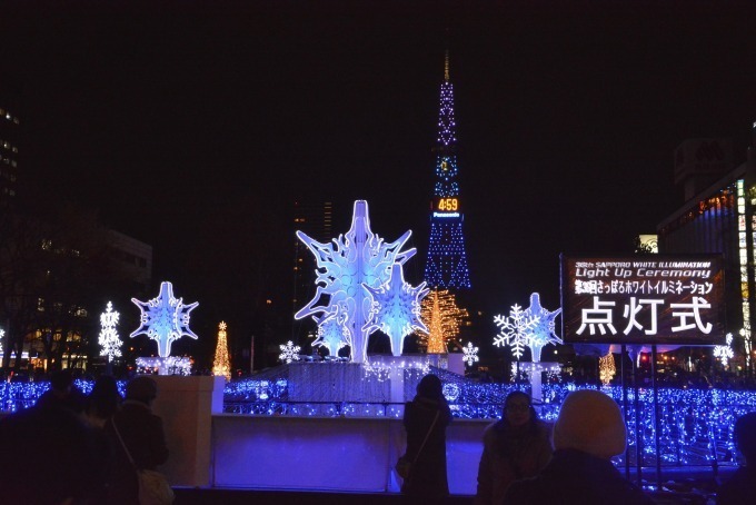
M406 283L401 265L394 264L391 276L385 285L377 289L365 286L374 300L368 319L368 335L376 329L388 335L394 356L401 356L405 337L416 328L428 330L420 320L420 299L428 294L425 285L422 283L412 287Z

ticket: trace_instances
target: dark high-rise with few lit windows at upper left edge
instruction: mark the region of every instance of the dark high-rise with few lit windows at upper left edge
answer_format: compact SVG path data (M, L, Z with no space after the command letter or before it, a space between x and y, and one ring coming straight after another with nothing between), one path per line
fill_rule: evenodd
M16 201L19 140L20 92L0 83L0 207Z

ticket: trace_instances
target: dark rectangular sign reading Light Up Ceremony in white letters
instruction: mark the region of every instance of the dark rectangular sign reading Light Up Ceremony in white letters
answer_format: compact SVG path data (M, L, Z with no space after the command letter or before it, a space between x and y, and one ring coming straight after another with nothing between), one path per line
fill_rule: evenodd
M720 256L561 257L565 344L725 343Z

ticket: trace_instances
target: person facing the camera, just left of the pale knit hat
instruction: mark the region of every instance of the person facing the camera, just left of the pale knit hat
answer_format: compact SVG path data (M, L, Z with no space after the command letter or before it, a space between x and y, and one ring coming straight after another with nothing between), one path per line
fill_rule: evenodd
M513 482L536 476L551 458L549 426L523 392L507 396L501 420L486 428L483 443L476 505L500 503Z

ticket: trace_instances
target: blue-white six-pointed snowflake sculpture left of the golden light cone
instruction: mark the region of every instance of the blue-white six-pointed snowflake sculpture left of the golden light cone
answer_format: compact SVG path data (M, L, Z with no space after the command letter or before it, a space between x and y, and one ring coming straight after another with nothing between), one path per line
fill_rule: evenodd
M199 303L185 305L181 298L173 298L173 285L170 283L160 284L160 294L157 298L149 301L139 301L131 298L141 311L141 325L130 337L145 334L158 343L158 356L161 358L170 356L170 346L173 340L178 340L183 335L193 338L199 337L189 328L189 313Z

